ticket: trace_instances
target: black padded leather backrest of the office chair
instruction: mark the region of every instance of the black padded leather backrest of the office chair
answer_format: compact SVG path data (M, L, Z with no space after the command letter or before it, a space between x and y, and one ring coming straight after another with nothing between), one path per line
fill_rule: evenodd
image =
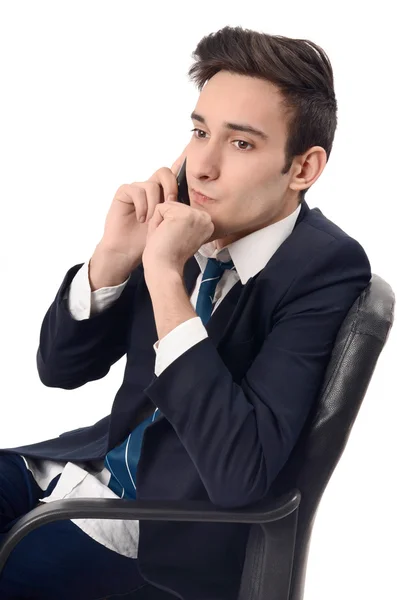
M313 407L270 495L302 494L289 600L302 600L311 532L327 483L339 462L394 320L390 285L373 275L336 337L319 401Z

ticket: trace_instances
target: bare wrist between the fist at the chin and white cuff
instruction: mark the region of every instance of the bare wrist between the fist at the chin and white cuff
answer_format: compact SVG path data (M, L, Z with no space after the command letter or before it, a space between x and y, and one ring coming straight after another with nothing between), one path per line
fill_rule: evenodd
M145 273L145 279L160 341L181 323L197 317L179 273L159 269Z

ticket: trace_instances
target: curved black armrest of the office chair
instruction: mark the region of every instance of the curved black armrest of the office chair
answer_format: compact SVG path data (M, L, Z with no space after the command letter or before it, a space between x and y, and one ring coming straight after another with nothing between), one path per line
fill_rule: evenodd
M238 509L217 508L211 502L182 500L124 500L120 498L71 498L43 503L21 517L10 529L0 549L0 573L8 556L28 533L66 519L122 519L145 521L196 521L215 523L259 523L277 521L294 512L300 503L298 490L276 499Z

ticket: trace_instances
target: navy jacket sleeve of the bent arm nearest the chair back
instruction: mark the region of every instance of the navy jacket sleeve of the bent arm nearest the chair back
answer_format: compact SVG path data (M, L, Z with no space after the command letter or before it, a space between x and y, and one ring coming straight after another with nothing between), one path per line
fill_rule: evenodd
M296 274L241 385L206 338L145 389L215 505L241 507L266 495L317 398L338 330L370 279L360 244L331 240Z

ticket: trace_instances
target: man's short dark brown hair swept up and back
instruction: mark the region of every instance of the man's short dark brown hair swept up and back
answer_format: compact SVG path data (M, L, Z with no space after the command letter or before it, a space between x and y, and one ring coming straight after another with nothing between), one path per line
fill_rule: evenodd
M202 38L192 56L188 76L200 91L220 70L259 77L279 88L288 126L283 174L295 156L312 146L324 148L328 161L337 102L332 66L322 48L309 40L226 26ZM301 190L300 202L308 189Z

